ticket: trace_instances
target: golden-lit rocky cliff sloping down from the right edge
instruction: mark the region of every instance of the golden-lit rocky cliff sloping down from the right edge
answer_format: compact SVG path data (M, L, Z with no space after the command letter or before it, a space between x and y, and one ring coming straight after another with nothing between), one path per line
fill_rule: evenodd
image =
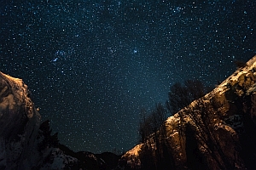
M256 56L122 157L142 169L256 167ZM148 162L147 160L151 160ZM151 164L151 167L147 167Z

